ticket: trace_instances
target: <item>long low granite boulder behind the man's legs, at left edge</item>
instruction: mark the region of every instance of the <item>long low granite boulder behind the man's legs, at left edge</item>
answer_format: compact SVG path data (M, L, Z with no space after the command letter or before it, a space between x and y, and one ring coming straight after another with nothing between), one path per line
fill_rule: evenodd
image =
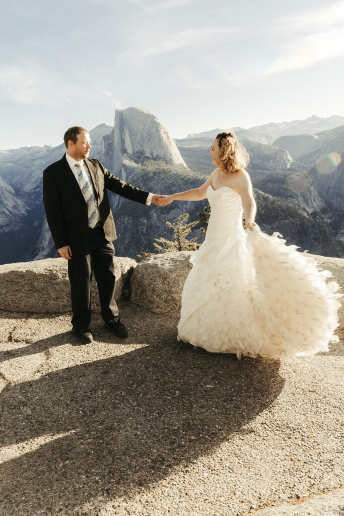
M122 296L129 271L135 260L114 257L115 298ZM0 310L27 313L64 313L71 311L67 262L63 258L0 265ZM99 309L96 283L92 282L92 310Z

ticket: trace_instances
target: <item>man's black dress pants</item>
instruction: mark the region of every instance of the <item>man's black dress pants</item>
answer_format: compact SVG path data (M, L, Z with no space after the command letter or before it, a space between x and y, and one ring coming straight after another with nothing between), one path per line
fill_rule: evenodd
M92 273L98 285L102 317L110 321L119 314L114 300L116 278L113 267L113 245L106 240L102 227L89 228L88 247L84 254L76 254L68 260L68 276L71 283L72 325L87 330L91 322Z

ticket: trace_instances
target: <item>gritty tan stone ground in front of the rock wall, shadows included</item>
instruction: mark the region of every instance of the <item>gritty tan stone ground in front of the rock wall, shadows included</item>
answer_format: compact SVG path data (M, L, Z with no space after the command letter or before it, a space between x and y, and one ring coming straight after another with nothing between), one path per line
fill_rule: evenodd
M129 337L93 314L87 346L68 315L0 313L2 516L342 516L343 341L237 360L120 311Z

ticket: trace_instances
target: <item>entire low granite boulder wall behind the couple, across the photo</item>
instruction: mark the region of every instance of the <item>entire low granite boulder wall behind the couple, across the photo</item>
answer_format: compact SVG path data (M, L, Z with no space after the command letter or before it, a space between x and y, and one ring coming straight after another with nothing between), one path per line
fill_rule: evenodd
M125 299L158 314L178 317L185 280L192 268L194 251L156 254L140 263L127 257L114 257L115 298ZM330 270L344 290L344 260L310 255L322 270ZM67 263L62 258L0 265L0 310L15 313L71 312ZM129 292L130 291L130 292ZM96 283L92 282L92 311L99 312ZM340 310L343 327L344 307Z

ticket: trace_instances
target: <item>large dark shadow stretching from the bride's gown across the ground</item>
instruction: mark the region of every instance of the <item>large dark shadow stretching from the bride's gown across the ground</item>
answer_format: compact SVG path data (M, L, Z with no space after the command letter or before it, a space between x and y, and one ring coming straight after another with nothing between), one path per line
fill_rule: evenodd
M161 480L247 432L283 388L279 367L152 344L7 386L1 446L38 440L0 466L0 513L53 515Z

